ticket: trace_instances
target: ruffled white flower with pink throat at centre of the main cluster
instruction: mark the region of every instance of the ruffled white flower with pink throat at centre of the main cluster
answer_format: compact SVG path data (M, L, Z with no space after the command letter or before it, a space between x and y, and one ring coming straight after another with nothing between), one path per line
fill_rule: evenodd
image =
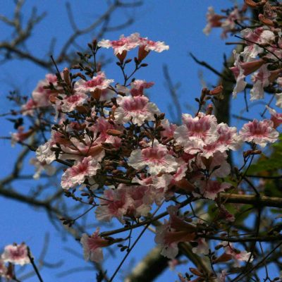
M176 159L168 154L166 146L157 141L150 147L131 152L128 164L137 170L148 166L148 173L152 175L170 173L178 168Z

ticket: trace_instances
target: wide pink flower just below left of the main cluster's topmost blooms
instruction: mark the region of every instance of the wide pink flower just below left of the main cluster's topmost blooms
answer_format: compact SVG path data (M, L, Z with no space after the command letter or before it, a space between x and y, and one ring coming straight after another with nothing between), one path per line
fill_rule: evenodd
M88 93L88 92L94 92L95 90L104 90L111 82L114 82L114 80L106 79L106 75L104 72L97 73L97 76L94 76L91 80L85 81L85 80L78 80L75 82L75 91L80 93Z

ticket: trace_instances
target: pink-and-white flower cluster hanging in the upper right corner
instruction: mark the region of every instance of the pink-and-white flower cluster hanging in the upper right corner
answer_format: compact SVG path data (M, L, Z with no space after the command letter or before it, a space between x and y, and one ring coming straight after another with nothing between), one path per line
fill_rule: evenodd
M241 28L243 20L247 19L243 16L247 6L262 9L263 13L259 14L261 25ZM279 9L278 6L271 6L269 1L252 0L245 0L245 6L241 10L235 7L233 11L227 12L227 16L217 15L212 7L209 8L204 33L209 34L212 27L222 27L223 35L226 32L240 32L239 38L243 39L245 46L240 53L233 51L234 66L230 68L236 80L233 97L245 90L247 76L251 75L250 100L264 99L264 89L268 87L276 93L276 106L281 107L281 27L275 24Z

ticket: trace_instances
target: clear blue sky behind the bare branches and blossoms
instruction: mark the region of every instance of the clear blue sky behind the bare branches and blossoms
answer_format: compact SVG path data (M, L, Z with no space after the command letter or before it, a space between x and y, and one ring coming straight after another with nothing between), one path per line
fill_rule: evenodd
M78 25L85 26L90 23L93 17L96 17L104 11L105 1L96 0L73 0L70 1L75 11L75 20ZM121 13L114 14L116 22L125 18L125 16L133 15L135 23L125 28L122 32L130 35L133 32L140 32L142 37L149 37L153 40L161 40L170 46L169 51L161 54L149 54L146 62L149 66L144 71L137 73L136 78L154 81L155 85L150 89L149 97L155 102L161 111L167 112L169 104L172 103L166 89L162 66L164 63L168 65L168 70L174 82L180 82L178 90L183 112L192 114L196 108L195 97L200 95L201 82L199 72L202 72L204 80L208 85L216 85L217 78L214 74L198 66L188 52L192 52L199 59L207 61L214 68L221 70L223 63L223 51L226 55L231 54L232 47L226 48L223 40L220 39L221 30L213 30L212 34L207 37L202 33L202 29L206 25L205 15L208 6L214 6L216 11L220 8L232 6L232 1L226 0L145 0L145 4L139 8L128 9ZM47 11L47 17L34 30L32 37L28 40L27 48L32 53L44 56L47 51L47 44L52 37L57 38L57 49L71 34L71 27L66 16L64 0L30 0L24 6L25 15L30 15L31 7L36 5L39 11ZM1 13L6 16L12 15L13 1L0 0ZM0 24L0 38L5 39L10 35L10 30ZM109 32L107 39L117 39L121 32ZM81 44L87 44L91 41L91 37L81 38ZM233 39L233 41L235 41ZM56 50L55 49L55 53ZM106 50L105 54L111 55L111 50ZM63 66L61 66L63 67ZM11 61L0 66L0 114L11 109L11 104L6 100L6 94L13 87L18 87L23 94L29 95L37 85L37 81L44 78L46 71L39 66L35 66L27 61ZM114 78L118 82L121 74L116 66L106 68L108 78ZM237 105L237 111L243 108L243 97L238 95L234 105ZM188 107L190 110L188 110ZM168 115L169 117L169 115ZM1 119L1 136L7 136L13 131L11 123ZM10 142L0 140L1 148L1 164L0 175L6 176L10 173L13 159L20 151L20 146L11 148ZM29 166L27 171L32 171ZM18 183L18 190L28 191L35 185L32 182ZM80 245L73 241L73 238L66 237L61 240L61 234L56 231L49 222L47 215L41 209L34 209L26 204L7 200L0 196L0 247L11 244L13 242L20 243L25 241L30 245L35 257L39 256L44 243L44 235L49 233L50 244L47 254L47 262L56 263L63 260L63 266L60 269L42 269L42 276L45 282L51 281L95 281L94 271L73 273L69 276L59 278L56 276L61 270L72 269L73 267L86 266L85 262L78 257L70 255L66 252L66 247L73 247L77 252L82 254ZM92 216L93 222L95 221ZM102 228L106 231L106 228ZM139 233L140 231L137 231ZM154 245L154 236L147 232L142 240L138 243L136 249L132 252L127 262L123 265L121 273L130 270L135 262L144 256L149 248ZM107 252L105 252L107 254ZM108 253L109 254L109 253ZM105 268L109 274L121 260L121 256L106 259ZM120 276L118 276L120 277ZM175 281L176 273L166 271L165 276L160 276L157 281ZM37 278L29 278L27 281L37 281ZM121 281L116 278L116 281Z

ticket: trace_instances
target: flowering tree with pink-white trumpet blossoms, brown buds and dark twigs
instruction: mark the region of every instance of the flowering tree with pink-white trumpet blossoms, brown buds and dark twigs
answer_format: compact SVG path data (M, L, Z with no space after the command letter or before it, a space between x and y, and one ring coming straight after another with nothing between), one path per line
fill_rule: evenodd
M154 82L138 79L138 71L148 68L152 51L161 53L168 46L139 33L94 39L71 68L60 70L51 57L56 73L47 74L30 99L10 96L20 104L11 112L19 116L13 119L17 131L11 141L35 151L35 178L43 171L61 173L55 197L87 207L74 218L48 203L61 224L73 228L85 260L98 266L97 281L115 281L147 230L155 233L158 252L126 281L152 281L157 275L148 269L154 261L165 262L159 272L168 264L186 264L180 281L281 281L276 268L281 268L282 245L282 114L274 109L282 107L281 9L270 0L245 0L222 15L209 8L204 32L221 27L222 37L240 39L228 44L241 48L219 73L222 84L204 87L195 100L197 111L183 114L181 124L170 123L145 96ZM103 48L113 49L122 81L106 76L99 63ZM235 85L229 90L234 99L245 92L247 108L248 90L250 101L266 99L267 93L261 118L246 123L241 118L240 128L221 122L226 83ZM92 211L101 224L116 221L120 226L85 232L79 220ZM133 240L135 229L139 233ZM125 255L108 277L101 262L109 246ZM43 281L24 243L6 246L0 262L7 280L18 281L14 264L31 263Z

